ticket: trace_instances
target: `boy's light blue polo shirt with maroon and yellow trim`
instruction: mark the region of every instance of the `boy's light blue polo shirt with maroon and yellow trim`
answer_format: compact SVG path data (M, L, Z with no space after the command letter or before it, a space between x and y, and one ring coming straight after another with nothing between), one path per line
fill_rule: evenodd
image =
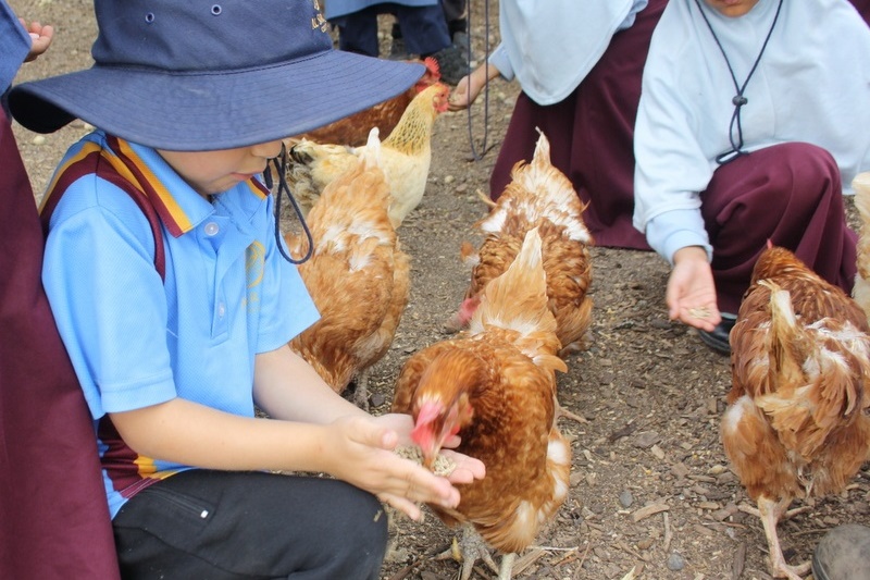
M174 222L161 224L165 281L142 211L94 174L75 181L54 209L42 267L95 429L107 412L176 396L252 416L254 356L319 317L296 267L277 250L272 196L246 182L209 202L153 149L121 143ZM95 147L105 149L99 131L67 151L58 173ZM186 467L136 457L98 434L113 517L152 478Z

